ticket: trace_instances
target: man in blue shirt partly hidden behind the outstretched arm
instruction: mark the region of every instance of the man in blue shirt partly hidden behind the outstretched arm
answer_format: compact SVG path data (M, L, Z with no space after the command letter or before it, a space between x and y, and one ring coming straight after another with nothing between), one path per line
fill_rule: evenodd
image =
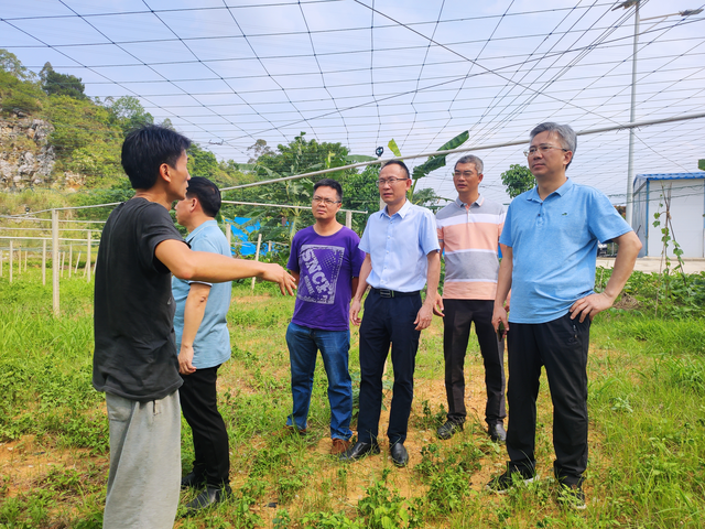
M203 176L188 182L186 198L176 203L176 220L188 230L193 250L232 257L230 245L215 219L220 190ZM178 373L184 384L178 400L194 441L194 464L181 481L182 488L206 485L186 506L198 510L230 495L228 432L218 411L218 368L230 358L226 316L230 307L230 281L206 283L172 278L176 303L174 333Z

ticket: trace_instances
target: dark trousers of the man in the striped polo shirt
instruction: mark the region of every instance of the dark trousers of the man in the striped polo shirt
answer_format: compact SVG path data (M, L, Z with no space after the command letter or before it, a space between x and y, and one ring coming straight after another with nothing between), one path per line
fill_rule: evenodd
M443 300L443 356L445 357L445 392L448 398L448 420L462 423L465 410L465 353L475 323L485 364L487 404L485 420L488 424L505 421L505 343L497 339L492 326L494 300Z

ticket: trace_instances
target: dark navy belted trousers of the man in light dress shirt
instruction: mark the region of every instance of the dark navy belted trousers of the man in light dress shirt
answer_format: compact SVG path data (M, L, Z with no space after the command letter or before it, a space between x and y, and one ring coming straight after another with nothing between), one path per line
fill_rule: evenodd
M387 436L390 445L406 440L411 402L414 398L414 367L419 336L415 331L421 295L382 298L371 290L365 300L360 325L360 412L358 441L377 441L382 410L382 375L392 344L394 386Z

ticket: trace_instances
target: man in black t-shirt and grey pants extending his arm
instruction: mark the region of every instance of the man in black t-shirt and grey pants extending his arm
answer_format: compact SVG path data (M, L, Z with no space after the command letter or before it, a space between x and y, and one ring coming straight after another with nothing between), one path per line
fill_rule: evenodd
M93 385L106 392L110 474L106 528L171 528L181 483L181 413L171 274L223 282L259 277L293 293L279 264L191 251L169 209L188 187L191 141L162 127L132 132L122 166L135 195L106 223L95 288ZM219 498L223 499L223 498Z

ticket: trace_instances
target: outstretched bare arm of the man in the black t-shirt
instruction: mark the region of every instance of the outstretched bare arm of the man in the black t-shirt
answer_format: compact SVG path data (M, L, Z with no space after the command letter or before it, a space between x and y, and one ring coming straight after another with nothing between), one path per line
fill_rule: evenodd
M260 278L279 284L282 294L294 295L296 284L279 264L232 259L219 253L192 251L175 239L160 242L154 250L156 258L178 279L223 283L245 278Z

